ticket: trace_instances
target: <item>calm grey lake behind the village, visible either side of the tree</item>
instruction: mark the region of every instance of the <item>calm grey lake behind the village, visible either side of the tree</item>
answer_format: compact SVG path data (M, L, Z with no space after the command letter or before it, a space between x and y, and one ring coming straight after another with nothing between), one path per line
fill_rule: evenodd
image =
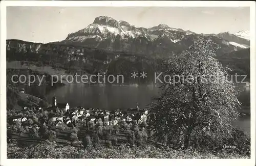
M242 112L250 112L250 88L239 87L239 100L246 108ZM47 92L49 103L52 97L57 98L57 102L68 102L71 107L83 106L85 108L106 108L127 109L135 108L137 103L140 108L146 108L153 101L152 98L159 96L161 90L154 86L84 86L66 85ZM250 116L246 115L239 119L238 125L248 135L250 135Z

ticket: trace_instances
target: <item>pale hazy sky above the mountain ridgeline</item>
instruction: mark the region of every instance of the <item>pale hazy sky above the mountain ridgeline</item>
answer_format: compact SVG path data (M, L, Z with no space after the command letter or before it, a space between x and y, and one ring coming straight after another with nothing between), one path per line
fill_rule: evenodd
M142 27L164 23L195 33L236 33L250 28L249 7L7 7L7 39L61 41L98 16Z

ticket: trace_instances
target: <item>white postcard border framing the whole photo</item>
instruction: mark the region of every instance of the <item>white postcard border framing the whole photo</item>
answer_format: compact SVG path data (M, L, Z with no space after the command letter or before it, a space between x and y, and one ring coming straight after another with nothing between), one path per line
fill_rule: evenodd
M250 7L250 100L251 100L251 158L250 159L7 159L6 140L6 8L8 6L49 7ZM220 18L221 19L221 18ZM252 1L1 1L1 159L8 165L255 165L255 2Z

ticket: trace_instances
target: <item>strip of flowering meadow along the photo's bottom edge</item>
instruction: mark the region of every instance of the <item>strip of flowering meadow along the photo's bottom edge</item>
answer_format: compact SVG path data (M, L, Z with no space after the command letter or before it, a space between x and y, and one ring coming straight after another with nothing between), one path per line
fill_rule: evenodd
M194 149L173 150L145 147L98 147L93 149L61 146L45 141L31 147L18 147L17 143L7 144L8 158L249 158L222 150L218 153L199 152Z

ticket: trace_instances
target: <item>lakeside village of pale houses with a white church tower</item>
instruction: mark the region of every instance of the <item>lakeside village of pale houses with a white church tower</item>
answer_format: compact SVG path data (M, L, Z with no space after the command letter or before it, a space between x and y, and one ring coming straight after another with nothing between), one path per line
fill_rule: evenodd
M136 121L138 125L142 125L146 124L148 114L147 109L140 109L138 106L137 108L128 108L127 110L116 109L111 112L106 109L83 108L81 106L70 108L69 103L58 103L55 96L52 98L52 106L45 108L45 110L36 106L23 107L23 112L38 111L42 113L46 110L49 113L48 117L41 118L41 124L51 120L55 126L65 123L69 127L76 126L80 122L86 122L86 124L89 122L94 122L94 124L102 122L105 126L115 126L120 122L130 124L132 121ZM7 121L9 124L15 124L19 121L22 124L26 124L28 128L32 128L33 122L28 123L30 119L34 119L34 116L18 114L8 117ZM39 129L40 127L37 128Z

